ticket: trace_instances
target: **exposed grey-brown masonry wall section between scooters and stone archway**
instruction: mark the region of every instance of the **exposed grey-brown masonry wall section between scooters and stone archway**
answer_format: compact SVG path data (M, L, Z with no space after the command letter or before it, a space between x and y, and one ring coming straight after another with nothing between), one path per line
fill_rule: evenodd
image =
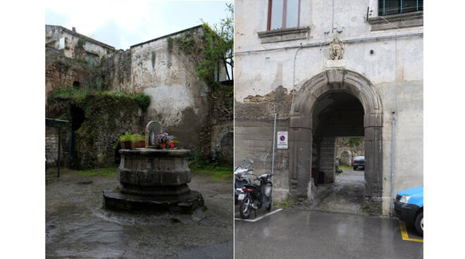
M253 161L254 174L271 172L273 158L274 113L278 113L276 132L289 131L287 116L292 95L280 86L266 96L248 96L247 102L235 103L235 166ZM244 161L245 160L245 161ZM288 149L275 149L273 176L274 201L283 201L289 190Z

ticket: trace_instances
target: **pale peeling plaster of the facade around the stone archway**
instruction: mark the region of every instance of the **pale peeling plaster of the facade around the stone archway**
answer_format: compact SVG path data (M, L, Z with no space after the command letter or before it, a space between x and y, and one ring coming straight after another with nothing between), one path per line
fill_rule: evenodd
M325 36L323 28L343 27L340 39L364 39L368 37L422 33L423 27L407 27L399 30L371 31L366 23L368 4L376 15L376 1L335 0L333 6L327 1L301 1L300 27L310 27L307 39L261 44L257 32L266 30L268 1L235 2L235 103L236 110L256 110L248 104L250 96L266 96L279 85L288 92L293 88L295 49L279 49L300 44L325 42L333 37ZM334 20L333 20L334 17ZM275 49L273 51L263 51ZM261 50L261 52L249 52ZM371 53L373 50L373 53ZM299 50L295 60L296 94L304 82L328 69L328 45ZM423 37L404 37L383 41L345 44L342 67L358 72L371 81L383 104L383 213L388 213L390 204L390 150L392 111L396 118L395 141L395 192L423 184ZM271 105L270 105L271 106ZM237 112L236 112L237 113ZM248 128L252 121L271 110L257 111L236 123L236 144L241 136L262 137ZM282 116L287 116L288 113ZM269 120L268 120L269 121ZM258 122L256 122L258 123ZM269 122L268 122L269 123ZM264 125L268 125L263 122ZM288 124L287 124L288 125ZM283 129L286 130L286 129ZM264 140L263 140L264 141ZM268 138L269 143L272 136ZM270 144L271 145L271 144ZM251 152L251 146L236 146L235 153L249 153L255 160L263 156ZM254 156L254 153L256 155ZM239 158L235 158L240 163ZM286 174L286 173L285 173ZM286 189L285 185L278 188Z

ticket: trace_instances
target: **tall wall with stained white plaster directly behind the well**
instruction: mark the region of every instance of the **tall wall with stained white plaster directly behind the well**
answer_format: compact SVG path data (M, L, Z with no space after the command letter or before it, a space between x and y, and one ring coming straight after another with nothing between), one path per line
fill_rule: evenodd
M202 32L202 27L194 29L194 34ZM131 47L128 90L151 96L147 121L159 122L178 138L181 146L198 149L202 144L200 132L209 125L210 89L197 77L196 64L169 44L170 38L181 36Z

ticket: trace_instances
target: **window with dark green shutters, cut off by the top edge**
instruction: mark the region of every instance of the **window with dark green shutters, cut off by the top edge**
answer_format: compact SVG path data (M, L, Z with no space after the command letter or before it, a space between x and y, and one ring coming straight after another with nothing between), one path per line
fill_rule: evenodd
M378 0L378 15L423 11L423 0Z

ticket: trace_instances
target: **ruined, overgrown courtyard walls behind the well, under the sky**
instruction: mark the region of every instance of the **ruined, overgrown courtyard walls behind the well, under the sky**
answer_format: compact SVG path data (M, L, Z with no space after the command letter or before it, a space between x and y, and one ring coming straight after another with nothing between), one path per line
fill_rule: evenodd
M62 136L65 163L75 168L114 164L118 134L144 132L150 120L174 135L179 146L232 163L232 80L218 67L221 87L213 89L197 76L202 51L188 53L179 46L190 42L202 49L202 25L125 51L74 28L46 25L45 33L46 117L70 121ZM57 90L87 94L71 98ZM148 106L141 94L149 96ZM46 156L52 162L56 141L54 129L47 128Z

